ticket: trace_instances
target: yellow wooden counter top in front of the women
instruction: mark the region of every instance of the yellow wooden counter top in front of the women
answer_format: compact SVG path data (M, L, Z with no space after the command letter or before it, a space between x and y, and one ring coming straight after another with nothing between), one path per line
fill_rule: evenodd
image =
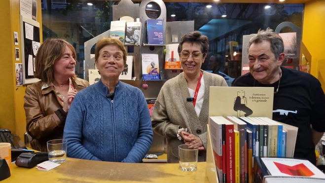
M61 166L46 171L12 164L11 177L1 183L209 183L206 162L194 172L185 172L179 164L115 163L67 158Z

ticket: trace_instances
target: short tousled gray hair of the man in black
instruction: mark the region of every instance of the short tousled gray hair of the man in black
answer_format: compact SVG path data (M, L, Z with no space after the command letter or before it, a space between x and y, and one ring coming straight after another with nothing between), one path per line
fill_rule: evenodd
M285 46L283 44L282 38L273 32L272 29L267 28L264 30L259 30L257 35L251 38L250 42L248 43L248 49L250 49L253 43L261 43L262 41L269 41L271 51L274 54L275 58L279 58L280 54L284 52Z

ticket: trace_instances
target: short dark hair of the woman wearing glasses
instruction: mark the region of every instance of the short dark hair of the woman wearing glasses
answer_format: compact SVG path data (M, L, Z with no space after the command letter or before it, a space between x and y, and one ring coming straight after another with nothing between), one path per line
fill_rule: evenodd
M178 47L178 52L181 54L182 45L184 42L189 42L191 44L199 44L201 45L201 52L203 53L203 57L209 51L209 40L208 37L202 35L199 31L194 31L191 33L187 33L183 37L181 37L181 42Z

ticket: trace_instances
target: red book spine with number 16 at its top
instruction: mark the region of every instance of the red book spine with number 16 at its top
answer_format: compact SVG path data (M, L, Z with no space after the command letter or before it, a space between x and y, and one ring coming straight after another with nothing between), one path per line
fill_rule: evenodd
M235 182L235 157L234 157L234 125L227 124L226 126L226 174L227 174L227 183Z

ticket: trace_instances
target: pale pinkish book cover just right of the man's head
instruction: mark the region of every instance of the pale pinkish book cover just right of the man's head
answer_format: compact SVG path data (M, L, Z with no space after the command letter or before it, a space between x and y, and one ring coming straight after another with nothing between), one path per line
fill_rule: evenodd
M297 33L280 33L285 46L286 58L297 57Z

